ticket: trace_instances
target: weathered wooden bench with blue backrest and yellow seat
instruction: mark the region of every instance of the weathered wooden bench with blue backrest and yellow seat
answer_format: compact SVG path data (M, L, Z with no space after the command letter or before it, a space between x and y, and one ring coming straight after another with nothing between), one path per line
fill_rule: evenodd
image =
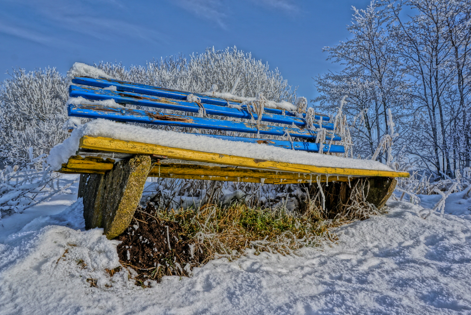
M324 152L345 152L341 145L315 143L317 134L306 128L305 113L264 108L263 113L258 115L260 108L235 99L105 78L75 77L72 83L81 86L70 86L71 97L98 101L114 99L120 105L105 106L93 102L69 104L69 116L168 125L178 127L182 132L190 131L189 133L194 129L216 130L219 134L200 136L307 152L318 152L320 146L324 146ZM138 109L130 108L129 105ZM143 107L145 108L142 109ZM200 115L178 115L150 108ZM223 116L223 119L216 119L214 116ZM233 121L224 117L242 118L245 121ZM334 126L329 122L328 116L316 114L315 120L317 124L314 127L319 128L321 124L322 128L330 131L326 140L341 140L340 136L332 133ZM233 136L221 135L221 131L230 132ZM247 133L256 137L244 136ZM260 135L289 135L305 141L266 139L260 138ZM377 207L382 207L394 190L394 177L409 176L408 173L393 171L293 164L181 149L178 144L170 147L87 135L81 137L78 151L63 164L61 172L81 174L79 197L84 198L86 228L103 227L110 239L121 234L129 225L148 176L270 184L310 183L313 176L317 182L349 182L354 178L368 177L372 182L368 198Z

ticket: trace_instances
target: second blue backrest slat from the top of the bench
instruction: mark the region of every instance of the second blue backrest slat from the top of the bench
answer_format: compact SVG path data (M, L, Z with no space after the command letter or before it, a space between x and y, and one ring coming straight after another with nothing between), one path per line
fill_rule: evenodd
M229 108L226 106L212 105L212 104L201 104L198 105L195 102L189 102L187 100L177 100L177 99L168 99L162 98L154 95L142 95L134 92L119 92L119 91L109 91L109 90L96 90L87 87L71 85L69 87L69 95L71 97L83 97L85 99L94 99L94 100L106 100L114 99L117 103L131 104L131 105L140 105L147 107L156 107L156 108L165 108L173 109L187 112L197 113L199 110L203 109L209 115L219 115L219 116L229 116L235 118L244 118L251 119L252 116L257 120L257 114L252 112L252 115L246 109L238 108ZM303 127L306 125L306 121L302 118L297 118L293 116L284 116L278 114L265 113L261 117L262 121L267 121L271 123L279 124L295 124L297 126ZM318 124L313 124L314 127L319 128ZM323 128L327 130L333 130L332 123L322 123Z

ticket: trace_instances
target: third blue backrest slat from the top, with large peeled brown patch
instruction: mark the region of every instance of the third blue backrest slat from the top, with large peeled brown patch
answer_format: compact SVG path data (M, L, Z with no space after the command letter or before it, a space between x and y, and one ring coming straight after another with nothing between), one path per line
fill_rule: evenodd
M105 118L116 121L126 121L134 123L160 124L188 128L203 128L221 131L234 131L239 133L259 133L283 136L286 133L291 137L303 139L315 139L316 132L281 126L270 126L243 122L234 122L221 119L211 119L197 116L182 116L159 112L150 112L145 110L130 108L115 108L101 105L79 104L68 106L69 116L87 117L87 118ZM341 141L341 137L335 134L327 134L326 140Z

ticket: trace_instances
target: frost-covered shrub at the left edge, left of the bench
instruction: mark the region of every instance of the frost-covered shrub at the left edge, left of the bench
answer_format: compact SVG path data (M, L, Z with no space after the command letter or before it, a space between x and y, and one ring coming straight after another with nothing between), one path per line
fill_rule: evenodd
M0 83L0 166L25 165L67 138L67 79L55 68L16 69Z

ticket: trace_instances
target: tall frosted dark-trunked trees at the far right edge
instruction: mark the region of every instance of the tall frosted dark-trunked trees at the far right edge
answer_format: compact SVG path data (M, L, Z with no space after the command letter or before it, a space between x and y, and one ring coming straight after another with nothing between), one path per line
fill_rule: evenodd
M384 3L397 54L414 83L414 133L408 151L438 176L453 176L454 169L470 164L471 1ZM404 17L403 8L415 15Z

